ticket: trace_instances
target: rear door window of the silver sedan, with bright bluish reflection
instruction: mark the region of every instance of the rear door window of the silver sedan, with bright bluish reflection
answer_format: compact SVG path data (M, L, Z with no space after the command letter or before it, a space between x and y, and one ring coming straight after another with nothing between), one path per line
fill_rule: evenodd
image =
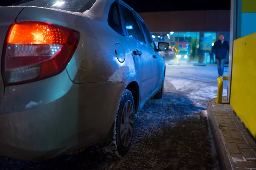
M122 5L121 5L121 10L122 10L122 16L125 22L125 27L128 31L128 36L136 40L139 40L141 42L145 42L143 33L140 30L140 27L132 11Z

